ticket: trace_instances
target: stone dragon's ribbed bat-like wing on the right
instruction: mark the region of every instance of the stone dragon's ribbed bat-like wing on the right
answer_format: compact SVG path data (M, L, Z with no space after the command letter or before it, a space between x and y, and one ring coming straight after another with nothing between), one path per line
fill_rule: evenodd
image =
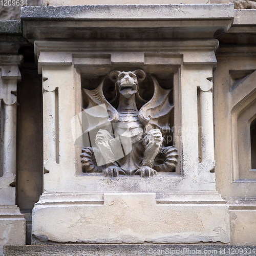
M174 110L174 105L169 102L169 93L172 89L161 88L156 78L153 76L151 78L154 83L154 95L139 111L139 119L145 126L146 133L157 128L170 129L169 116Z

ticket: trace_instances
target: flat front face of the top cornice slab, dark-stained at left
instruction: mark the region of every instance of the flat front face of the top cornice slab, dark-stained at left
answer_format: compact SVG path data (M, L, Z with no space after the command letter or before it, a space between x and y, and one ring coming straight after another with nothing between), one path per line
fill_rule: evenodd
M233 17L233 5L84 5L23 7L21 18L28 19L169 19Z

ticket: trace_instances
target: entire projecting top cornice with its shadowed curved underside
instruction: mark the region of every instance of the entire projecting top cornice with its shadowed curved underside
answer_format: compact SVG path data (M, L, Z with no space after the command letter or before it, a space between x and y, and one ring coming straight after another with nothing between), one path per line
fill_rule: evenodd
M21 12L23 34L32 42L214 38L227 32L233 16L232 4L30 6Z

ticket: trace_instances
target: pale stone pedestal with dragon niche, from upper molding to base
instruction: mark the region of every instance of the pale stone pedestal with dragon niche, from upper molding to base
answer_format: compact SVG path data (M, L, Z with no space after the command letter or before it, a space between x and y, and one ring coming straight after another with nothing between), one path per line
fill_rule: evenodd
M215 188L216 47L35 42L45 174L34 244L230 241L228 207ZM175 140L167 142L166 125Z

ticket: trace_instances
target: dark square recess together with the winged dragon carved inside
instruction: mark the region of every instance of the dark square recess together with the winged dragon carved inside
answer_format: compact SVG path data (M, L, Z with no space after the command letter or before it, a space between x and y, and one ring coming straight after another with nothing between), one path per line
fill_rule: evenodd
M84 173L145 177L175 172L173 81L173 73L132 68L81 77Z

